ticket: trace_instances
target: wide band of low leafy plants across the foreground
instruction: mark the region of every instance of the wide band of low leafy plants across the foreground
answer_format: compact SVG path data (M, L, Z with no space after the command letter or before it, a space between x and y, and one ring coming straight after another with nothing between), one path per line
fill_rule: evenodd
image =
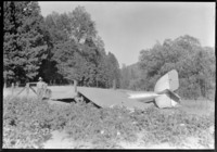
M182 111L164 113L157 109L98 109L91 103L48 104L36 99L4 99L3 148L43 148L53 130L65 130L76 142L92 148L120 148L119 141L136 142L142 135L144 145L169 142L182 147L195 137L206 148L214 140L214 113L189 115Z

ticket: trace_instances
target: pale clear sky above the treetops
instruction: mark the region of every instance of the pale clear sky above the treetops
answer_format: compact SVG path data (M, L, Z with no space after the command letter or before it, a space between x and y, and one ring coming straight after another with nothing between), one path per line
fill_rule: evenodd
M38 2L41 14L68 13L85 7L95 22L105 51L115 54L119 66L138 62L142 49L156 41L190 35L202 47L215 46L215 2Z

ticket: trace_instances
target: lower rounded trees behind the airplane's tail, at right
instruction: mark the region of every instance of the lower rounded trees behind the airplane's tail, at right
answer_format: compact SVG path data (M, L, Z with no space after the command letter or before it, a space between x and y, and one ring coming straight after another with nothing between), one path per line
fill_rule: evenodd
M214 100L216 59L214 48L201 47L191 36L156 42L153 48L142 50L135 68L122 68L124 88L153 91L157 79L171 69L179 74L178 93L186 99L206 98ZM130 71L139 75L130 75ZM128 72L128 74L125 74ZM133 73L133 72L132 72Z

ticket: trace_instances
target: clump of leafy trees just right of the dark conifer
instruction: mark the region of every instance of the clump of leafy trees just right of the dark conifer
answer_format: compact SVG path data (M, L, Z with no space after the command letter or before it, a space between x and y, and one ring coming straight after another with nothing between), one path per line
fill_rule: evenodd
M41 66L40 74L46 79L65 79L69 84L76 79L80 86L103 88L112 87L108 81L114 78L119 79L107 73L110 67L119 71L118 63L110 66L110 60L116 58L111 52L105 53L95 23L84 7L77 7L67 14L53 12L44 17L44 26L52 43L50 59L44 65L53 63Z

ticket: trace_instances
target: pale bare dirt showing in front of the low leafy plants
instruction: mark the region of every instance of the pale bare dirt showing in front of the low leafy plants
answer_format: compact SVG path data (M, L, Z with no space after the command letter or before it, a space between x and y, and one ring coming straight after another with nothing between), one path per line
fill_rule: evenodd
M183 145L173 147L169 143L161 144L149 144L145 145L142 140L142 134L138 134L138 140L136 142L118 142L118 147L122 149L207 149L199 143L199 139L194 137L187 138ZM94 145L91 142L75 142L65 131L53 131L52 138L44 143L44 149L94 149ZM214 149L214 141L209 145L210 149Z

